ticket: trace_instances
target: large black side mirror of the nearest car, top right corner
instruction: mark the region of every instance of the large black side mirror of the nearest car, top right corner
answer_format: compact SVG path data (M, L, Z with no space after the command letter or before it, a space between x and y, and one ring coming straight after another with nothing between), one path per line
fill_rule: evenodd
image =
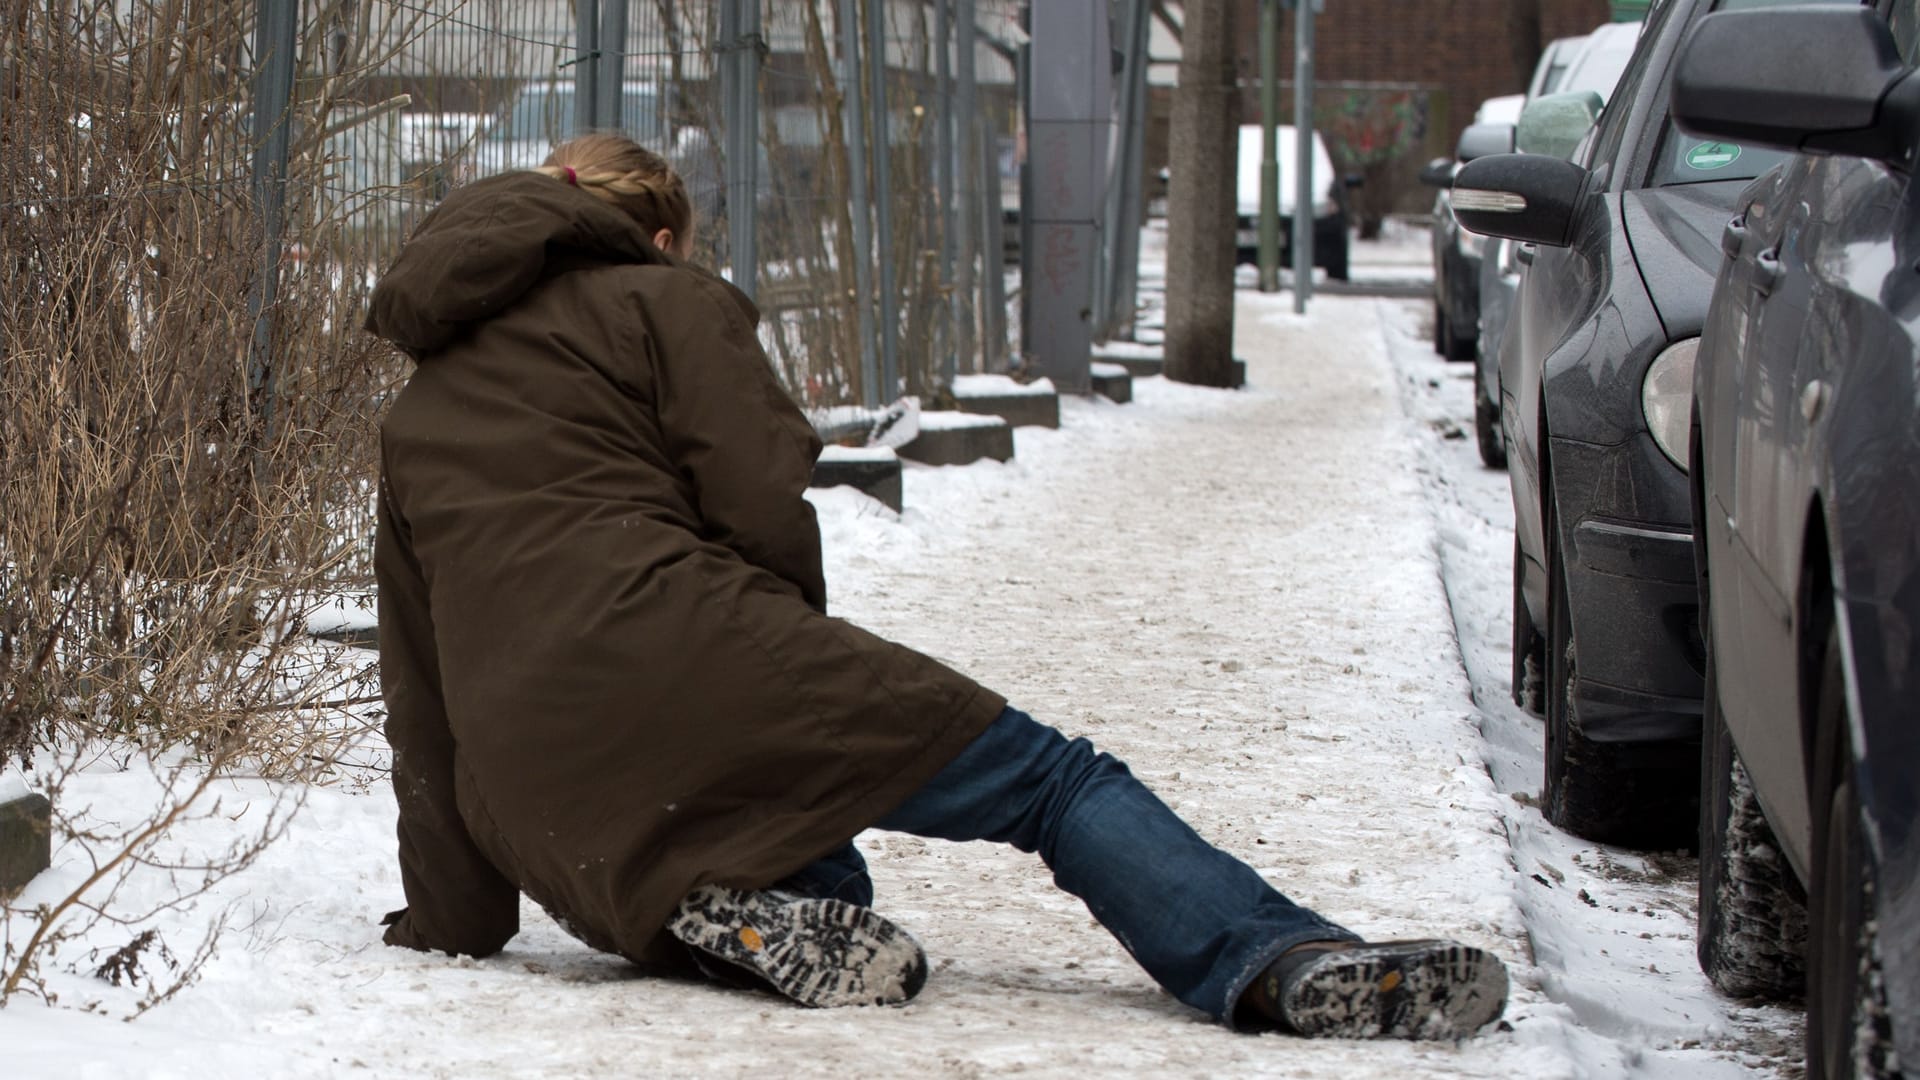
M1682 44L1672 115L1705 138L1905 161L1920 79L1872 8L1716 12Z

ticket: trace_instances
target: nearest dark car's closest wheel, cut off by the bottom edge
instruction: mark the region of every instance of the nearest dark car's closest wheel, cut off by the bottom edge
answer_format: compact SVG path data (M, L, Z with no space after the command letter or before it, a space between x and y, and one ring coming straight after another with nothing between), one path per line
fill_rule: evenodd
M1807 1080L1897 1080L1836 628L1826 636L1814 723Z

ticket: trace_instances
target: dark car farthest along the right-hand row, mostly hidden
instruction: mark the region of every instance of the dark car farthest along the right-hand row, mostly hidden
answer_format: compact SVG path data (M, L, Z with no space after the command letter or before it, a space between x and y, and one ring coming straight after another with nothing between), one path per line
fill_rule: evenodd
M1459 133L1453 160L1430 163L1421 179L1438 186L1432 213L1434 248L1434 352L1448 359L1473 359L1480 336L1480 256L1486 236L1469 233L1453 217L1453 169L1475 158L1513 152L1513 125L1524 94L1488 98Z

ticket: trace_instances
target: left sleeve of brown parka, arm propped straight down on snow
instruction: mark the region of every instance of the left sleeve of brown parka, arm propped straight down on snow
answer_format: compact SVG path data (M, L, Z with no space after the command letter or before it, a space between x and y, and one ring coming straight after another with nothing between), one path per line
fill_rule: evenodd
M426 582L405 525L380 488L380 692L399 801L399 880L407 907L386 944L486 957L520 928L520 890L474 847L453 794L453 734L440 694Z

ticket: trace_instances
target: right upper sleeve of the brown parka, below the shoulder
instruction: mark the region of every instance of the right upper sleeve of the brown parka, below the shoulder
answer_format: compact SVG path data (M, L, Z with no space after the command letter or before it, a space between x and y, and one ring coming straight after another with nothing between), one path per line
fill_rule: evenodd
M676 279L649 311L668 454L693 480L707 538L791 582L826 613L820 523L804 498L820 436L780 386L728 286L689 273Z

